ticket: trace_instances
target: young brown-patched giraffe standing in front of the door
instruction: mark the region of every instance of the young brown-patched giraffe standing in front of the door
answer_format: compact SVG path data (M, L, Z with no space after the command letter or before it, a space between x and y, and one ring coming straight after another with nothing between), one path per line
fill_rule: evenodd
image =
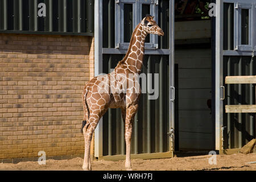
M85 154L82 169L92 170L90 143L98 121L109 108L121 108L125 123L126 160L125 168L131 170L130 143L134 116L138 110L141 88L136 77L142 70L144 40L147 34L163 36L163 30L156 24L154 16L146 15L137 25L125 57L118 62L114 71L92 78L82 92L84 119L81 132L84 133ZM131 84L127 84L127 82ZM128 85L128 86L127 86Z

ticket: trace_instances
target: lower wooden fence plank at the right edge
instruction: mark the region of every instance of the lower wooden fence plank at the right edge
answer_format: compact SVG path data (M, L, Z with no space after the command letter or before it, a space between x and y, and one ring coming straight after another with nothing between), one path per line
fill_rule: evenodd
M226 113L256 113L256 105L226 105Z

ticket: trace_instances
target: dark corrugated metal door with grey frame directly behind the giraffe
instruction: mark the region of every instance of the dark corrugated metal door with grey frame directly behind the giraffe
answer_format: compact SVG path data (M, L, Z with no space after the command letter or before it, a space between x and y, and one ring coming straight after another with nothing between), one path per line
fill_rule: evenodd
M109 73L123 59L135 26L146 14L155 15L165 36L148 36L142 73L159 80L159 96L148 100L143 93L135 115L132 158L171 156L174 141L174 1L109 0L95 1L95 70ZM147 77L148 79L148 77ZM147 80L148 82L148 80ZM141 84L144 84L141 82ZM173 143L173 142L172 142ZM109 109L95 133L95 156L104 159L124 158L124 126L120 109Z

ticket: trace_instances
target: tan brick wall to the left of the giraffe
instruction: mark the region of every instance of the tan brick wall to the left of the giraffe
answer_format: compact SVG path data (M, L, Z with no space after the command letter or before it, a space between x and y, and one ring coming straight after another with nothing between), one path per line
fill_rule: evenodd
M81 93L93 75L90 36L0 34L0 160L84 154Z

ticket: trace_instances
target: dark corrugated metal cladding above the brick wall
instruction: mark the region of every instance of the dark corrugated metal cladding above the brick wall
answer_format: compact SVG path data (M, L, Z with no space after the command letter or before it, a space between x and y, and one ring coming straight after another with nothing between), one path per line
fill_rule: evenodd
M0 0L0 32L93 35L93 7L94 0Z

